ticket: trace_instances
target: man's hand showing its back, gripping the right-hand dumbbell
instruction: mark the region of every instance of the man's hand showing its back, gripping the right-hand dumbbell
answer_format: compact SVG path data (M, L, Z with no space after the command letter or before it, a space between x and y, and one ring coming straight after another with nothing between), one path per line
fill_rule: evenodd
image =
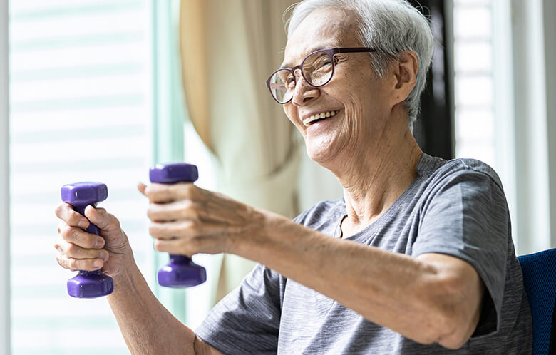
M148 197L150 235L159 252L237 254L248 239L263 235L264 213L190 182L138 184Z

